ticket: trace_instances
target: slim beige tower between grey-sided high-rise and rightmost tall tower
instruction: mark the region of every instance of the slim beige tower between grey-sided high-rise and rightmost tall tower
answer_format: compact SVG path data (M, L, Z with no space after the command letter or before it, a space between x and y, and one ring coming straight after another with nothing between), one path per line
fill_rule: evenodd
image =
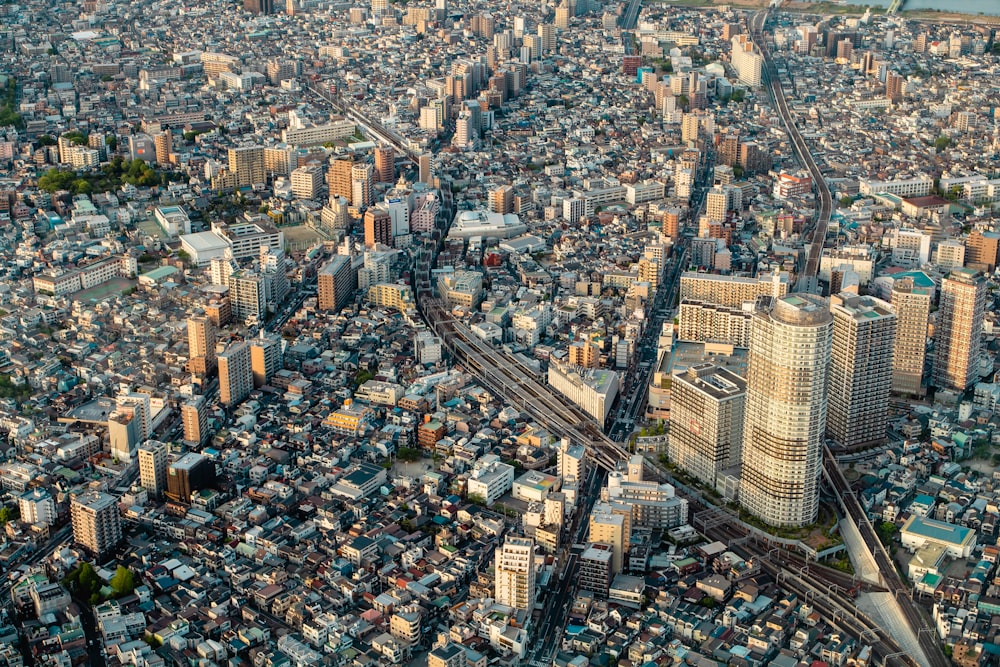
M892 390L898 394L922 395L924 359L927 355L927 324L933 287L918 287L913 278L900 278L892 285L892 307L896 311L896 340L892 356Z

